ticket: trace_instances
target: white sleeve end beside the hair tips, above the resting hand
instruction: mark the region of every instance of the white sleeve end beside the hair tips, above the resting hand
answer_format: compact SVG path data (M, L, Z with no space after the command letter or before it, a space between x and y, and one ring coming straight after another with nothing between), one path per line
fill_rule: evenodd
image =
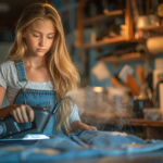
M72 124L74 121L80 121L80 117L78 114L78 108L76 104L72 105L72 111L70 114L70 123Z

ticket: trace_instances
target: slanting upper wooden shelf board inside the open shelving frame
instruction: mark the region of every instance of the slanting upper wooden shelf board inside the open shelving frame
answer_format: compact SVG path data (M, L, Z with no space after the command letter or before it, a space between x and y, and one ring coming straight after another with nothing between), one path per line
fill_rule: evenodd
M83 20L83 24L84 25L89 25L89 24L95 24L97 22L105 22L108 20L109 16L116 16L116 15L121 15L125 12L125 10L115 10L115 11L111 11L106 14L100 14L90 18L85 18Z

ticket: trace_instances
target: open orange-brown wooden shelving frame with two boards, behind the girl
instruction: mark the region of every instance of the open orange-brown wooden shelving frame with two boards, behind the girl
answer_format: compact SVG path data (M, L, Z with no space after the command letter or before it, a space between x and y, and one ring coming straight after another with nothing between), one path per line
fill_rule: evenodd
M89 0L80 0L78 2L78 21L77 26L78 26L78 42L76 46L78 48L97 48L97 47L102 47L102 46L109 46L109 45L116 45L121 42L145 42L145 39L135 39L134 37L134 27L133 27L133 20L131 20L131 13L130 13L130 2L129 0L126 0L126 8L125 10L115 10L108 12L106 14L100 14L93 17L89 18L84 18L84 4L89 1ZM114 38L104 38L102 40L89 42L89 43L84 43L83 39L83 33L84 33L84 27L86 25L93 25L96 23L102 23L105 22L109 17L111 16L116 16L116 15L123 15L125 16L125 26L126 26L126 36L125 37L114 37Z

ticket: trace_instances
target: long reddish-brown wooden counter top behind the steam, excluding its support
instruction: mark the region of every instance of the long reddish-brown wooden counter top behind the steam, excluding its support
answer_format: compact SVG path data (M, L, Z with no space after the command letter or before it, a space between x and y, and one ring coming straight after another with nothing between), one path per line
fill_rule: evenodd
M113 117L111 114L98 113L92 111L84 112L82 121L91 124L110 124L110 125L130 125L130 126L145 126L145 127L163 127L163 121L152 121L143 118L129 117ZM89 118L88 118L89 117Z

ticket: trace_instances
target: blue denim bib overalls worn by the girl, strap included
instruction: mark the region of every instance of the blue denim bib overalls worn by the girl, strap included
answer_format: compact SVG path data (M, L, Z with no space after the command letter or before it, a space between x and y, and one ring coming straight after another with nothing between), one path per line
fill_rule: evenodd
M24 87L16 95L13 104L27 104L29 106L41 106L46 108L51 112L50 120L42 134L47 136L57 135L57 122L58 122L58 109L61 105L63 99L55 103L55 91L53 90L38 90L38 89L26 89L27 79L24 68L24 63L22 60L15 61L15 65L18 74L18 82L25 84ZM53 112L53 114L52 114ZM27 129L32 127L32 123L20 123L22 129ZM61 127L61 133L64 134Z

